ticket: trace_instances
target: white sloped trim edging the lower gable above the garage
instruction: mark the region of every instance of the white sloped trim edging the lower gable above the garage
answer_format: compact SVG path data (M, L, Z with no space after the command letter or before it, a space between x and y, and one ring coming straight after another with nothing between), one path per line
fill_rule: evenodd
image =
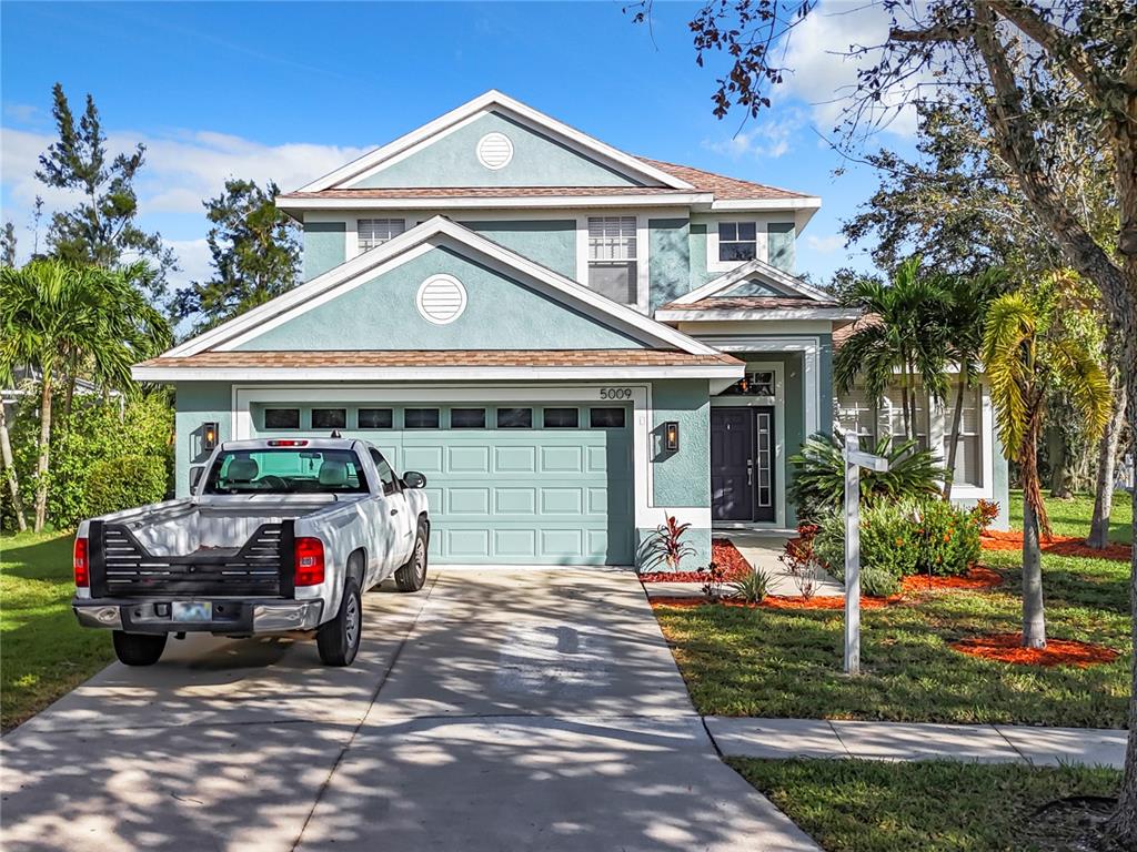
M188 358L206 351L232 351L246 341L334 299L363 279L372 278L424 251L440 247L458 249L464 256L472 253L488 266L518 277L557 301L654 348L698 356L717 354L715 349L705 343L619 304L470 228L435 216L306 284L174 346L161 358Z

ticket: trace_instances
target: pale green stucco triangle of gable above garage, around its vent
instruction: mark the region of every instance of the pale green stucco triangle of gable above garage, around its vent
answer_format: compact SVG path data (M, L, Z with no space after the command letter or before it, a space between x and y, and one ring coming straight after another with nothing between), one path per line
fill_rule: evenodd
M423 319L418 286L446 273L466 289L449 325ZM432 249L243 343L239 349L642 349L622 332L448 249Z

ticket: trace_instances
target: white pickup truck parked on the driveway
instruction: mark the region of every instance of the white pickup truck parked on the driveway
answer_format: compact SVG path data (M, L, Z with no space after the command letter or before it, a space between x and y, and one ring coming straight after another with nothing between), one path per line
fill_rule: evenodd
M76 533L75 616L113 629L128 666L157 662L171 633L285 630L316 630L321 660L350 666L360 593L392 574L401 592L426 580L426 479L365 441L230 441L191 479L188 499Z

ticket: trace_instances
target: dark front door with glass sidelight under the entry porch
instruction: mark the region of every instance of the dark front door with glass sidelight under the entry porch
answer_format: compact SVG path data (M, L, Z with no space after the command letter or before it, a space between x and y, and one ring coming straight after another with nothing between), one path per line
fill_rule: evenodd
M774 409L711 409L711 517L777 519Z

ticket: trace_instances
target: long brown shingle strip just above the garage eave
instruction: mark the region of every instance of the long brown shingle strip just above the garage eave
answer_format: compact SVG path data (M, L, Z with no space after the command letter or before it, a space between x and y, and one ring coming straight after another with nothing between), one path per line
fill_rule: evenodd
M138 367L712 367L739 365L729 354L691 354L658 349L586 350L346 350L198 352L185 358L152 358Z

